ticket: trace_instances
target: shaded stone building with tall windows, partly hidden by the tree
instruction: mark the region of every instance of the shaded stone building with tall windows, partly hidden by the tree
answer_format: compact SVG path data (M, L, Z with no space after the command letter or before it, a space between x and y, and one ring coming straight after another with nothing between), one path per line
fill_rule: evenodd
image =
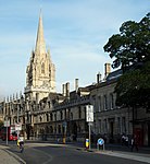
M105 81L97 82L90 92L95 108L93 131L108 142L121 142L124 133L129 141L136 134L140 145L150 145L150 113L146 108L116 106L114 89L122 70L110 72Z

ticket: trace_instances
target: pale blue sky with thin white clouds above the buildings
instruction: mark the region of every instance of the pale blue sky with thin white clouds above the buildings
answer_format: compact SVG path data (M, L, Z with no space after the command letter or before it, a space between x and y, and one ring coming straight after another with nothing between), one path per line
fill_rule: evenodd
M0 97L24 92L42 11L43 33L55 65L57 92L96 82L113 59L103 46L126 21L139 22L150 0L0 0ZM113 69L112 69L113 71Z

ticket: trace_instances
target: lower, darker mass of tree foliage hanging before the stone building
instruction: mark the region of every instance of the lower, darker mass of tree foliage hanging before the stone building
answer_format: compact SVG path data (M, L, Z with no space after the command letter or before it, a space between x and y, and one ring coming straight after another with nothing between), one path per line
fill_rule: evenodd
M116 86L116 105L150 108L150 61L141 69L125 72Z

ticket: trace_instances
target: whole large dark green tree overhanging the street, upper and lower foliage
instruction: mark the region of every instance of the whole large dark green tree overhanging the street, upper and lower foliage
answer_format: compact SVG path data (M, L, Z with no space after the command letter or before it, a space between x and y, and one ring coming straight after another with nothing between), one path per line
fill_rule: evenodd
M112 67L123 70L115 87L116 104L150 109L150 13L139 23L123 23L120 32L103 47L115 58Z

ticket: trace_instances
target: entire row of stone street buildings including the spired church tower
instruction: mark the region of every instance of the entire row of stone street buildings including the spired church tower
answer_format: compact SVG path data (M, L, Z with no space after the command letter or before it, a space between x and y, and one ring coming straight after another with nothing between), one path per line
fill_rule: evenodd
M40 13L35 50L26 68L24 94L9 97L0 103L0 119L11 125L20 122L26 139L76 140L85 142L88 137L86 106L93 105L91 139L103 137L107 142L120 142L121 136L136 133L141 145L150 145L150 112L145 108L124 108L115 105L114 87L122 70L111 72L104 65L104 80L97 74L95 84L79 87L75 79L74 91L70 83L55 92L55 67L50 51L46 49L42 16Z

